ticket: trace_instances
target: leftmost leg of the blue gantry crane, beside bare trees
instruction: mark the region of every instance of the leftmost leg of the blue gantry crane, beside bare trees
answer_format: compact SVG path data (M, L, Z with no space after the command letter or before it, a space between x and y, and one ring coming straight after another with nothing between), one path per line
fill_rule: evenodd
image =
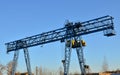
M11 72L11 75L15 75L16 67L17 67L17 61L18 61L18 56L19 56L19 50L15 50L15 52L14 52L14 58L13 58L13 63L12 63L12 72Z

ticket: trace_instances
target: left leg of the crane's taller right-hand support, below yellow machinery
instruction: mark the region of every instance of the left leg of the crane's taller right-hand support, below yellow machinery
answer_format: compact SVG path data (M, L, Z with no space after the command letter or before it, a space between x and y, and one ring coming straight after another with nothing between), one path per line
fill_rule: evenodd
M65 60L64 60L64 75L68 75L69 73L69 66L70 66L70 58L71 58L71 40L70 40L70 46L67 46L67 40L65 42Z

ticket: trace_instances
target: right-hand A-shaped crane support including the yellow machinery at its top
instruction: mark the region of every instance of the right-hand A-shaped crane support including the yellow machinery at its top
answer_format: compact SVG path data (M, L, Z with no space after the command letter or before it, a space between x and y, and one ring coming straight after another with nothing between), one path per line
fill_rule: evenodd
M72 49L76 49L76 53L78 56L78 61L81 69L81 74L86 75L85 70L85 62L84 62L84 54L83 54L83 47L86 46L84 40L81 37L74 37L71 40L66 40L65 42L65 57L62 60L64 66L64 75L68 75L69 73L69 65L70 65L70 58Z

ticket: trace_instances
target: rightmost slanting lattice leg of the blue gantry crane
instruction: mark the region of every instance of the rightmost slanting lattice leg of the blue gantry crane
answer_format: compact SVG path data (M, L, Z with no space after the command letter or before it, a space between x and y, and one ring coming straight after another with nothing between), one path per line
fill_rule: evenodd
M77 56L78 56L78 61L81 69L81 75L86 75L85 71L85 62L84 62L84 54L83 54L83 48L82 48L82 43L81 43L81 37L78 37L80 41L80 47L76 48Z

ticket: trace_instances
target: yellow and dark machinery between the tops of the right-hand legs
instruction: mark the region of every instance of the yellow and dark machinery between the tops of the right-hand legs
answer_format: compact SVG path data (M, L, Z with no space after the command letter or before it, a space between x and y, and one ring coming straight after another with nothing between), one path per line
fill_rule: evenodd
M77 48L82 46L86 46L86 43L84 40L67 40L66 46L70 47L70 44L72 44L72 48Z

